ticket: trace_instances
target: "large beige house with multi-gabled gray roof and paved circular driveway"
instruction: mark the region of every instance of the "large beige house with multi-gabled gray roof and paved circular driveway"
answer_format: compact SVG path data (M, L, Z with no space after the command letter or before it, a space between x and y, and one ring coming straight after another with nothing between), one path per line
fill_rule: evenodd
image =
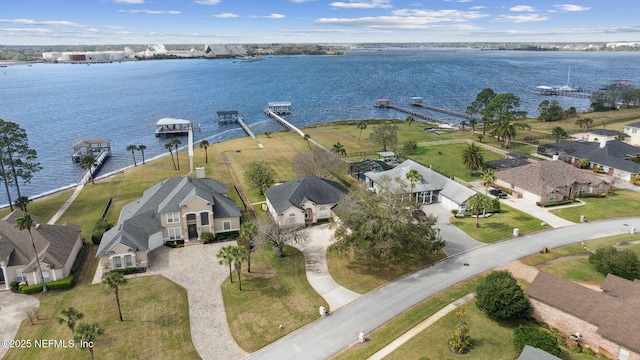
M102 236L97 257L104 272L145 269L148 253L166 242L238 231L240 209L226 194L225 184L204 177L173 177L153 185L123 206L118 224Z

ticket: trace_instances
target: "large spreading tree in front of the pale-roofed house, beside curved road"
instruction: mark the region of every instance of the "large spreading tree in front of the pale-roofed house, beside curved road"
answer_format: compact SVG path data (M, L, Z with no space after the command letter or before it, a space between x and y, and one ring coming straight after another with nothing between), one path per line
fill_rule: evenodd
M382 178L376 183L379 194L362 184L349 189L340 200L332 227L336 250L357 260L394 261L404 254L426 255L436 249L435 218L414 223L411 214L420 206L407 196L407 179ZM440 246L441 245L441 246ZM439 244L440 249L444 246Z

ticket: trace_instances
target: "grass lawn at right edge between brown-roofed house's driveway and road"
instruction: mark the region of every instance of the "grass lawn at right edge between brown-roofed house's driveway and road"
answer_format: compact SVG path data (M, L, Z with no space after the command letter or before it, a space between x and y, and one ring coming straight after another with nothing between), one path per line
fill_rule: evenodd
M584 215L587 221L640 216L640 193L615 189L607 198L584 198L583 206L551 210L554 215L577 221Z

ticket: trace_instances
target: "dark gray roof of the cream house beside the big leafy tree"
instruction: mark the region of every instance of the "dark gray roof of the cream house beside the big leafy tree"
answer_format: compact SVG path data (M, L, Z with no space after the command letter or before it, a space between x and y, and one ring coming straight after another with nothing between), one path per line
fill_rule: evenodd
M272 186L265 191L265 196L280 214L291 206L302 209L302 205L308 200L316 204L334 204L346 193L347 189L335 181L305 176Z

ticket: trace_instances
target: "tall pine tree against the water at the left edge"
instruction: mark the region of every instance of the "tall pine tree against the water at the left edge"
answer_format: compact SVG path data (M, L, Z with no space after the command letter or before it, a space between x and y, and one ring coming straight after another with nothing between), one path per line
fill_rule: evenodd
M11 210L9 186L15 186L18 197L22 196L19 179L31 182L33 174L42 169L37 158L38 153L29 147L27 132L14 122L0 119L0 180L5 184Z

